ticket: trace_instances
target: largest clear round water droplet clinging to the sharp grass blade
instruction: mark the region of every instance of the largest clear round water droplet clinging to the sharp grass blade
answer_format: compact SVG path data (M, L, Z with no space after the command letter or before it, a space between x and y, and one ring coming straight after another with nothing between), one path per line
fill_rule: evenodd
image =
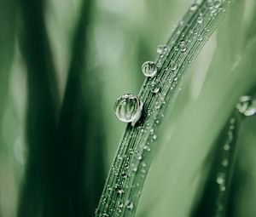
M134 125L142 115L143 102L136 95L124 94L116 100L113 110L120 121Z

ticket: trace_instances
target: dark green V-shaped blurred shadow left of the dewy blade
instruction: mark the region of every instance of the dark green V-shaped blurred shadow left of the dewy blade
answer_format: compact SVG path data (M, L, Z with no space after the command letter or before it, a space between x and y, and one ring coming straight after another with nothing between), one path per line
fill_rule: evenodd
M27 66L27 167L19 217L93 216L104 182L100 83L87 67L91 2L73 37L60 107L44 23L44 1L20 1L20 44Z

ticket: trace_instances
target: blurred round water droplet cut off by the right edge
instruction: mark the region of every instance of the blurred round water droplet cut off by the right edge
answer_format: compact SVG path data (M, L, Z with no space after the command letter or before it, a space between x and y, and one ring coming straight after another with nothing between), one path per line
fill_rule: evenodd
M251 96L241 96L236 108L245 116L253 116L256 113L256 100Z

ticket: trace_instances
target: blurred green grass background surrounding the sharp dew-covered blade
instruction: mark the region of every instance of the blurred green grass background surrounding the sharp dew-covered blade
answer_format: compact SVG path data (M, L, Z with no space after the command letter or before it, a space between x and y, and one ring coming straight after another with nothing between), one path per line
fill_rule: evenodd
M256 5L235 2L166 112L137 216L189 216L214 141L256 87ZM125 129L113 102L138 93L143 61L190 3L0 0L1 217L94 215ZM256 216L255 130L242 123L232 217Z

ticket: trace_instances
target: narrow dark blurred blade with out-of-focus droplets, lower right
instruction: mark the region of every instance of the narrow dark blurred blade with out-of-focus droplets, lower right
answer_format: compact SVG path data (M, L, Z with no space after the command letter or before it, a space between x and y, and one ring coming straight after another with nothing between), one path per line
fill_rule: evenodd
M207 185L193 216L226 216L230 185L236 165L237 135L241 114L234 111L216 142Z

